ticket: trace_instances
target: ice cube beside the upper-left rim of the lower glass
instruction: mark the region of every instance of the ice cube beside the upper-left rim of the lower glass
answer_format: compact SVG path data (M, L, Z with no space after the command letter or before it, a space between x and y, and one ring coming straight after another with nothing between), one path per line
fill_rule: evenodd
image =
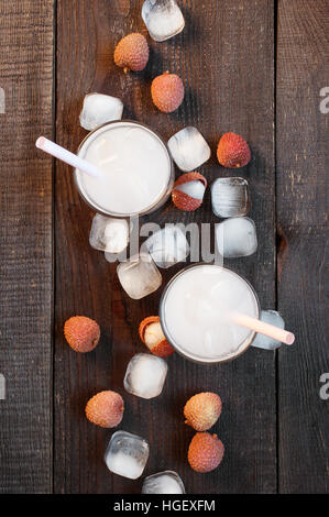
M162 284L162 276L152 256L134 255L118 265L119 280L125 293L134 300L154 293Z

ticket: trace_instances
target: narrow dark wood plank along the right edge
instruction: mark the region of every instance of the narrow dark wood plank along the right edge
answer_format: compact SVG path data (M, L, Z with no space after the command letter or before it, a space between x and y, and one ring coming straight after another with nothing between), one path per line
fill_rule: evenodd
M329 406L319 396L320 375L328 372L329 114L320 112L329 73L328 10L328 0L278 2L277 220L285 239L278 308L297 334L278 362L283 493L329 491Z

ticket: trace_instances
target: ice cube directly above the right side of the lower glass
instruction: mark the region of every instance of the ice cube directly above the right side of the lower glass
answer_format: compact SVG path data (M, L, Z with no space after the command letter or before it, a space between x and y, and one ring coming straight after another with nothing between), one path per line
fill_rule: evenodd
M234 217L216 224L216 243L226 258L249 256L257 250L256 227L248 217Z

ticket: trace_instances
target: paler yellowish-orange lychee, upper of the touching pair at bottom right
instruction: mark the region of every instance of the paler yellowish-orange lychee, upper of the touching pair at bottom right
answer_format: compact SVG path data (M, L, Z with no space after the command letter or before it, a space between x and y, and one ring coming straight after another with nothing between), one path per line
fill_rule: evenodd
M221 399L215 393L199 393L185 405L185 424L196 431L208 431L219 419L221 414Z

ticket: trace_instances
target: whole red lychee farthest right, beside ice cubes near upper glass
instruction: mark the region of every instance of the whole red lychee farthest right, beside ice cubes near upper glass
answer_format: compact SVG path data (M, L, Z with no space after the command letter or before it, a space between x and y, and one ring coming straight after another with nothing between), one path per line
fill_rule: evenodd
M217 157L223 167L238 168L249 164L251 152L242 136L235 133L226 133L219 141Z

